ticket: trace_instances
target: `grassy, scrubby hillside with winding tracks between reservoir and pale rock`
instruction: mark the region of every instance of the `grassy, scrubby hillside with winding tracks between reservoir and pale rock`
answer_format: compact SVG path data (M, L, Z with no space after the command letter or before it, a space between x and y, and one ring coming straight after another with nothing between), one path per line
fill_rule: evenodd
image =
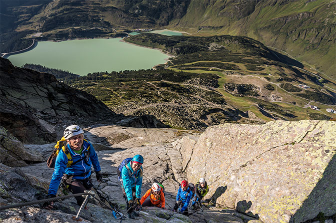
M174 57L156 70L92 73L68 83L117 113L151 114L181 129L203 130L225 122L336 118L325 111L336 109L335 81L319 79L302 64L288 63L284 55L256 40L153 33L125 40L161 48Z

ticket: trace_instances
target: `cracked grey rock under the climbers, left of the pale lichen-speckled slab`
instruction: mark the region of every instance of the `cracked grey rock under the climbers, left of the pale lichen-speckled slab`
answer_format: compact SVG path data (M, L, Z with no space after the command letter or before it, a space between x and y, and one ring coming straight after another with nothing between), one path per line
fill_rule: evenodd
M166 195L166 209L155 209L145 207L140 212L140 217L136 217L139 223L244 223L245 221L235 216L238 214L234 210L220 210L213 206L204 207L204 212L193 213L189 217L185 217L174 212L172 209L175 201L179 182L186 179L185 172L182 168L182 157L178 150L173 148L172 142L185 135L194 135L192 131L180 131L173 129L139 129L131 127L122 127L115 125L95 125L86 129L85 138L92 142L93 147L98 148L97 154L103 174L103 183L98 184L95 181L94 173L92 174L93 183L97 190L104 194L109 201L114 204L122 212L125 211L125 201L121 194L120 184L115 173L119 163L135 154L141 154L144 157L143 164L143 195L146 190L151 187L151 184L156 181L162 183ZM45 145L25 145L29 150L35 150L44 158L53 150L53 144ZM179 162L176 162L179 161ZM175 165L175 162L177 165ZM22 193L15 193L21 185L16 185L14 188L3 187L4 190L0 194L0 203L20 203L26 202L29 199L44 198L46 196L48 183L52 175L52 169L47 168L45 162L31 164L18 169L12 169L5 166L0 166L7 173L1 175L4 179L11 179L7 182L25 182L25 187ZM1 169L0 169L1 172ZM1 172L2 173L2 172ZM18 174L19 173L19 174ZM24 174L23 174L24 173ZM19 177L15 177L19 176ZM0 177L0 182L3 182ZM21 180L18 180L21 179ZM26 179L26 181L24 181ZM178 180L176 180L178 179ZM41 187L36 187L40 185ZM36 189L37 188L37 189ZM29 196L23 196L22 194ZM59 195L60 190L58 190ZM38 196L37 196L38 195ZM17 200L18 197L24 199ZM10 209L0 212L0 219L4 223L33 223L45 222L47 219L50 222L72 222L79 207L75 200L66 199L56 203L56 209L47 211L40 209L38 205L33 207L24 207L22 209ZM192 213L192 211L191 211ZM95 203L89 203L88 209L84 210L81 215L81 222L119 222L114 220L111 212L101 209ZM79 222L80 222L79 221ZM125 219L123 222L131 223L133 220Z

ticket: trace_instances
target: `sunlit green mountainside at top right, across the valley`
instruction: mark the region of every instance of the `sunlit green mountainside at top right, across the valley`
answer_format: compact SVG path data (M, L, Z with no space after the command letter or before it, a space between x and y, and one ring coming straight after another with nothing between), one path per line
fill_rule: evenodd
M332 0L195 0L170 25L195 35L245 35L335 79L335 9Z

